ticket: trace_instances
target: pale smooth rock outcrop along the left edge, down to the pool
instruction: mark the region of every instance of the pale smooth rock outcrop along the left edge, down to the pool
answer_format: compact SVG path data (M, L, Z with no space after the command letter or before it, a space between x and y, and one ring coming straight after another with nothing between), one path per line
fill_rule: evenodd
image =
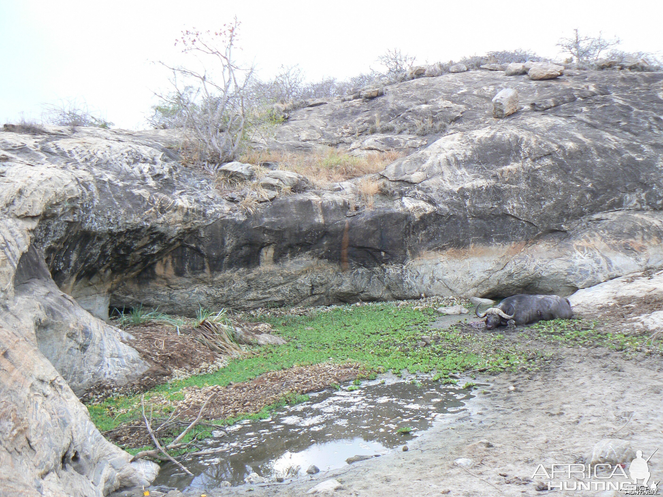
M68 219L76 178L10 154L0 154L0 496L92 497L149 484L155 465L130 463L76 397L149 365L123 342L129 335L56 286L33 243L44 220Z

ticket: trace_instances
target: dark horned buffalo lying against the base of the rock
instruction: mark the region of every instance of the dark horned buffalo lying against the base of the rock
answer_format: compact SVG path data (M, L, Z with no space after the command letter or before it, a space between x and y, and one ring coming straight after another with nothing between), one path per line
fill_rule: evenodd
M514 295L505 298L495 307L489 307L482 314L479 314L477 305L475 313L477 317L486 318L487 329L506 326L511 319L516 325L530 325L538 321L573 317L568 299L556 295Z

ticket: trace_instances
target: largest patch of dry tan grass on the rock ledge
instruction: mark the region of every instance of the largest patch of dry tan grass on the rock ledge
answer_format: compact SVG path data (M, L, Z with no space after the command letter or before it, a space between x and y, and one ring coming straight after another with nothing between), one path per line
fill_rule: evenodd
M324 187L330 183L380 172L402 156L402 152L396 150L369 152L365 156L354 156L328 147L307 152L252 151L239 160L249 164L278 162L279 169L296 172L306 176L316 186Z

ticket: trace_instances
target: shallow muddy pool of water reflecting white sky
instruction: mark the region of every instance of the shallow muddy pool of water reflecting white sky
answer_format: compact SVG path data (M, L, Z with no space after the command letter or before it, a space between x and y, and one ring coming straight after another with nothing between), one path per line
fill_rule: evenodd
M346 466L349 457L378 457L430 428L436 417L455 412L469 390L430 378L385 375L363 382L358 390L310 394L310 400L278 409L269 419L241 421L218 431L202 449L223 453L185 461L188 476L172 463L164 465L153 485L180 490L211 490L243 484L257 473L265 481L300 478L315 465L320 470ZM409 435L398 433L410 427ZM253 476L255 478L255 475Z

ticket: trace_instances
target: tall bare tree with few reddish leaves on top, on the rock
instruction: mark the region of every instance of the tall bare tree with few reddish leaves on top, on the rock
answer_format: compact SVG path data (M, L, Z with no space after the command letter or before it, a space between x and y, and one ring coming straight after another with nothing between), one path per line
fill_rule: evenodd
M202 160L233 160L251 131L246 96L254 70L235 60L238 28L235 18L216 31L182 31L175 44L194 56L200 68L164 64L173 73L174 91L158 96L202 146Z

